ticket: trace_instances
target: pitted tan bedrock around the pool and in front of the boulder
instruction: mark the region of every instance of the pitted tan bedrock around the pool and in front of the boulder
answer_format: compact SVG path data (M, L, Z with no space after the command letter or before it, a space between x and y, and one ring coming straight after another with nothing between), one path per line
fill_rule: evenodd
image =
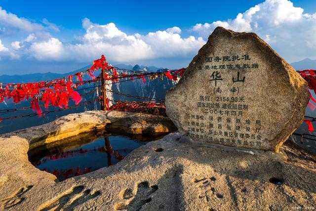
M75 122L91 123L91 114L68 115L66 121L55 123L66 131L69 124L79 124ZM116 120L142 118L116 114ZM107 119L103 115L94 113L94 123ZM57 182L54 175L32 166L27 152L34 143L18 134L0 136L2 210L261 211L315 208L316 204L315 161L296 166L271 151L195 142L174 133L141 146L114 166Z

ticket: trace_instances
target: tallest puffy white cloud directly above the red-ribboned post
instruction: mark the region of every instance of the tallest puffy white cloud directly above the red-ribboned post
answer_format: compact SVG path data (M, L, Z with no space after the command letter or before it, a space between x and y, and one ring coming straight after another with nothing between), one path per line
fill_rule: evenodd
M152 57L151 46L135 36L128 36L114 23L99 25L85 18L82 27L86 30L82 42L68 44L66 49L75 59L91 60L105 54L115 61L133 61ZM68 58L68 59L74 59Z

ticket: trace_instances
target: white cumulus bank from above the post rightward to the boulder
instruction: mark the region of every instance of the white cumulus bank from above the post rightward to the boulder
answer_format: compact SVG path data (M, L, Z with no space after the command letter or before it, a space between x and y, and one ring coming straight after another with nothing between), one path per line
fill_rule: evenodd
M86 29L83 43L68 46L70 51L79 57L98 57L105 53L115 62L194 55L205 43L202 38L193 36L181 38L179 27L133 36L120 31L114 23L99 25L87 18L83 19L82 27Z

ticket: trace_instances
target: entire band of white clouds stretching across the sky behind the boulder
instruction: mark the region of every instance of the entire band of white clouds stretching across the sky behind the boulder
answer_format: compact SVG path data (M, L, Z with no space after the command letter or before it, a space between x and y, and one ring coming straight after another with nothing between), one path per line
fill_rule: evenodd
M84 18L85 32L79 37L75 35L79 39L72 42L53 37L49 30L59 31L59 27L47 19L43 19L42 24L34 23L0 7L0 33L8 33L12 28L24 33L23 39L4 42L6 46L11 43L8 48L1 43L2 49L9 51L11 58L33 57L40 61L89 62L101 54L111 62L181 60L193 57L217 26L237 32L255 32L290 62L306 57L316 59L316 13L306 14L289 0L266 0L238 13L234 19L198 23L189 31L198 35L195 37L183 37L182 30L176 26L143 35L128 35L114 23L100 25Z

